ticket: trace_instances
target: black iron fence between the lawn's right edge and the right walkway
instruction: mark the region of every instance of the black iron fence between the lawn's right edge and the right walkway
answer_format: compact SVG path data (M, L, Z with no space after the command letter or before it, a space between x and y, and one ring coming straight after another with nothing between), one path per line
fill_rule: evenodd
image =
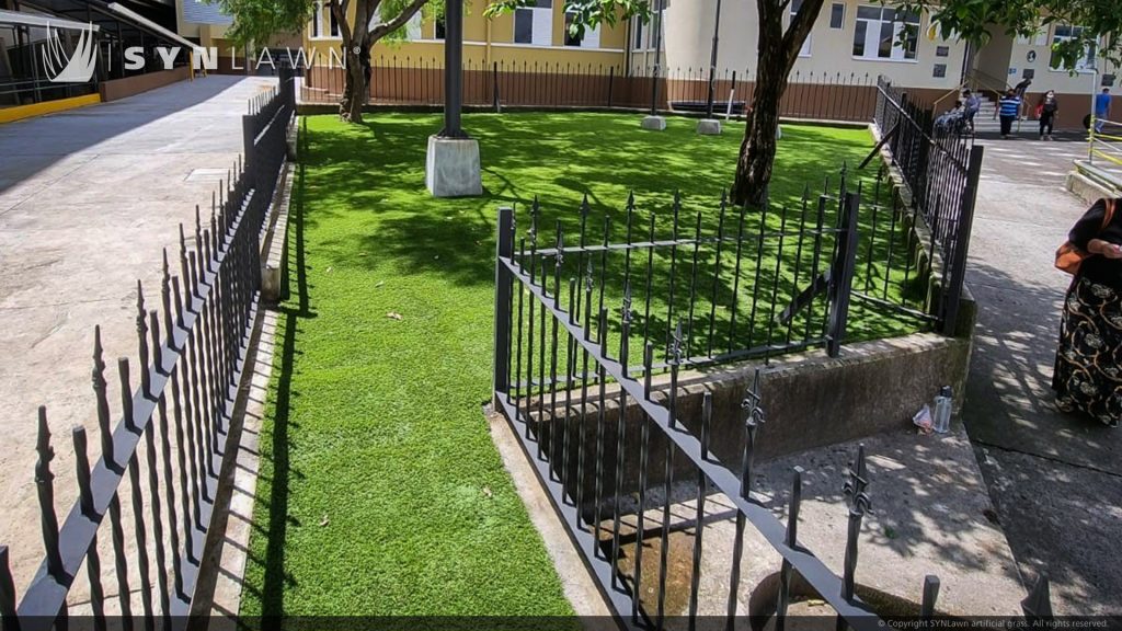
M929 231L930 254L944 267L937 313L945 332L957 324L966 275L966 257L984 148L973 136L937 131L934 113L911 103L885 77L877 82L874 124L902 176L922 230ZM866 161L867 163L868 161Z

